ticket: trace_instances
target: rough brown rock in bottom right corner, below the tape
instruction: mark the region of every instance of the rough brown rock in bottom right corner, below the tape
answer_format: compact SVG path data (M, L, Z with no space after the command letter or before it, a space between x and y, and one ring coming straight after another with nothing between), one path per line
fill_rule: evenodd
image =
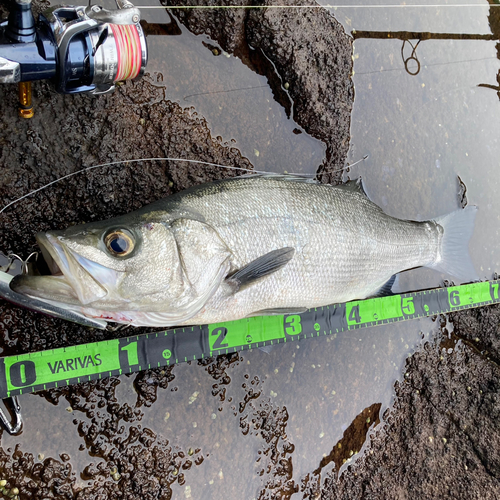
M500 367L483 346L499 319L498 306L450 315L453 331L408 359L369 449L321 498L498 498Z

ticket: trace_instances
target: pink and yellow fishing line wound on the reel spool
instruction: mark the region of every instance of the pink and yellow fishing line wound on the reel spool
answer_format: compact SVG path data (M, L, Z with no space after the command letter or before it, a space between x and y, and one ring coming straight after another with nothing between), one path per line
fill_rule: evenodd
M139 74L142 60L141 41L137 28L133 24L126 26L110 24L110 27L115 37L118 53L115 82L132 80Z

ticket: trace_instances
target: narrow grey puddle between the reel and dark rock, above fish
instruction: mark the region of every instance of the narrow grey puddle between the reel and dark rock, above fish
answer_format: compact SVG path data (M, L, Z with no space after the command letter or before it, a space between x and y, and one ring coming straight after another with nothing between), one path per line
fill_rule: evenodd
M178 33L147 36L150 74L146 80L163 87L165 99L194 108L207 120L213 137L238 148L258 170L316 171L325 145L287 117L265 76L224 52L208 36L193 35L165 11L144 10L142 17Z

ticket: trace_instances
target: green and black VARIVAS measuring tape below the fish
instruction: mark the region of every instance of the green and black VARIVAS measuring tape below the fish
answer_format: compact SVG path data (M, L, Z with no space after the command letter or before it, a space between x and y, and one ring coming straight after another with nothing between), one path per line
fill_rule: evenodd
M0 358L0 398L500 302L500 280Z

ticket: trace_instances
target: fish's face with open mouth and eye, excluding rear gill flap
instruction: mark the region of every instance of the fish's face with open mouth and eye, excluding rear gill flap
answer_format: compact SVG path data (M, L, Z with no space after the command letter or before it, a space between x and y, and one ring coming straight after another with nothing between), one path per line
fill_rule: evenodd
M187 292L168 224L117 218L39 233L52 276L20 276L15 291L55 302L117 309L174 305Z

